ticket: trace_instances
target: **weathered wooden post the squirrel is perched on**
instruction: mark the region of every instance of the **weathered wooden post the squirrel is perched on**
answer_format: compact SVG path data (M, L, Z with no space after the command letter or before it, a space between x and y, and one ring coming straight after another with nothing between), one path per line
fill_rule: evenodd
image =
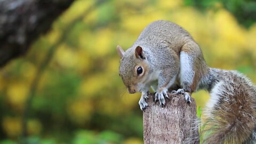
M169 97L161 107L149 95L143 112L144 143L199 143L195 100L188 104L181 94Z

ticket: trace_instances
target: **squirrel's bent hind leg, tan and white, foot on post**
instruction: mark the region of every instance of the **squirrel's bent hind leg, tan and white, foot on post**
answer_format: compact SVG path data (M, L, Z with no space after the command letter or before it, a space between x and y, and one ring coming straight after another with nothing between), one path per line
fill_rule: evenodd
M202 75L206 74L207 70L200 47L194 41L184 44L180 52L179 80L187 102L190 102L191 93L196 91ZM178 93L183 94L182 90L179 89Z

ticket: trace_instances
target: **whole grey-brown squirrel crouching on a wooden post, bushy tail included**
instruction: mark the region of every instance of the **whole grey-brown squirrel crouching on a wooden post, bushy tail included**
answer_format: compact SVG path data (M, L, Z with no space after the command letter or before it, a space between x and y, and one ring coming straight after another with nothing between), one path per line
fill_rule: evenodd
M141 92L141 110L147 107L150 86L154 90L157 84L155 101L160 105L169 98L169 89L188 103L191 93L204 89L211 97L204 110L202 142L256 142L256 87L237 71L207 66L199 45L179 25L154 21L129 49L118 45L117 53L119 76L129 93ZM182 88L174 90L177 85Z

